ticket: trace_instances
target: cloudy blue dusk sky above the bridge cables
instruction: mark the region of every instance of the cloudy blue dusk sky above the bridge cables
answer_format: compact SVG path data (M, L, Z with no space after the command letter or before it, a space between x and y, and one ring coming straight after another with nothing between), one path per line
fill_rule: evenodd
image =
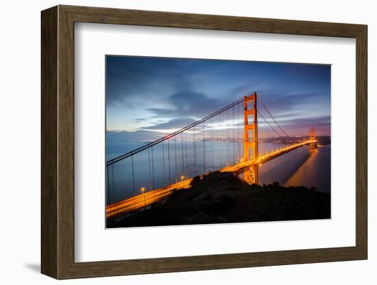
M258 98L290 136L330 135L330 66L230 60L106 57L106 128L153 140Z

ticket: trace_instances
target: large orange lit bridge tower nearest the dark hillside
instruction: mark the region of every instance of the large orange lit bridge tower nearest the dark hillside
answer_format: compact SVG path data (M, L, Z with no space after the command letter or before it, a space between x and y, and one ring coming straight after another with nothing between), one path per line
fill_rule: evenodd
M258 159L258 121L256 110L256 92L245 96L243 100L244 136L243 153L245 162ZM253 163L248 171L245 171L245 181L250 184L258 184L258 164Z

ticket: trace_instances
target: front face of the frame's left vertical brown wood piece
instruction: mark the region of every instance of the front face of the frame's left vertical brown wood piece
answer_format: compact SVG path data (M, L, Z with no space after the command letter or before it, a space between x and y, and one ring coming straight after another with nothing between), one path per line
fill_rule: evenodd
M74 260L74 22L58 6L58 278Z

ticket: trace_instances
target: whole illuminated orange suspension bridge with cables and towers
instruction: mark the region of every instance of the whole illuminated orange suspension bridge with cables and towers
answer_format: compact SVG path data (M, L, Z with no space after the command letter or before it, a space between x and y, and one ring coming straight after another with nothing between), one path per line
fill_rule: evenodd
M106 217L140 210L174 190L190 187L195 176L232 172L258 184L258 167L307 145L291 138L254 92L176 132L106 162Z

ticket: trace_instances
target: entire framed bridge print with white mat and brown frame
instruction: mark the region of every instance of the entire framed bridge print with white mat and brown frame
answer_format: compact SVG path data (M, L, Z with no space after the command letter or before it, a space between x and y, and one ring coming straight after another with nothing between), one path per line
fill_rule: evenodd
M42 11L42 273L367 258L367 26Z

